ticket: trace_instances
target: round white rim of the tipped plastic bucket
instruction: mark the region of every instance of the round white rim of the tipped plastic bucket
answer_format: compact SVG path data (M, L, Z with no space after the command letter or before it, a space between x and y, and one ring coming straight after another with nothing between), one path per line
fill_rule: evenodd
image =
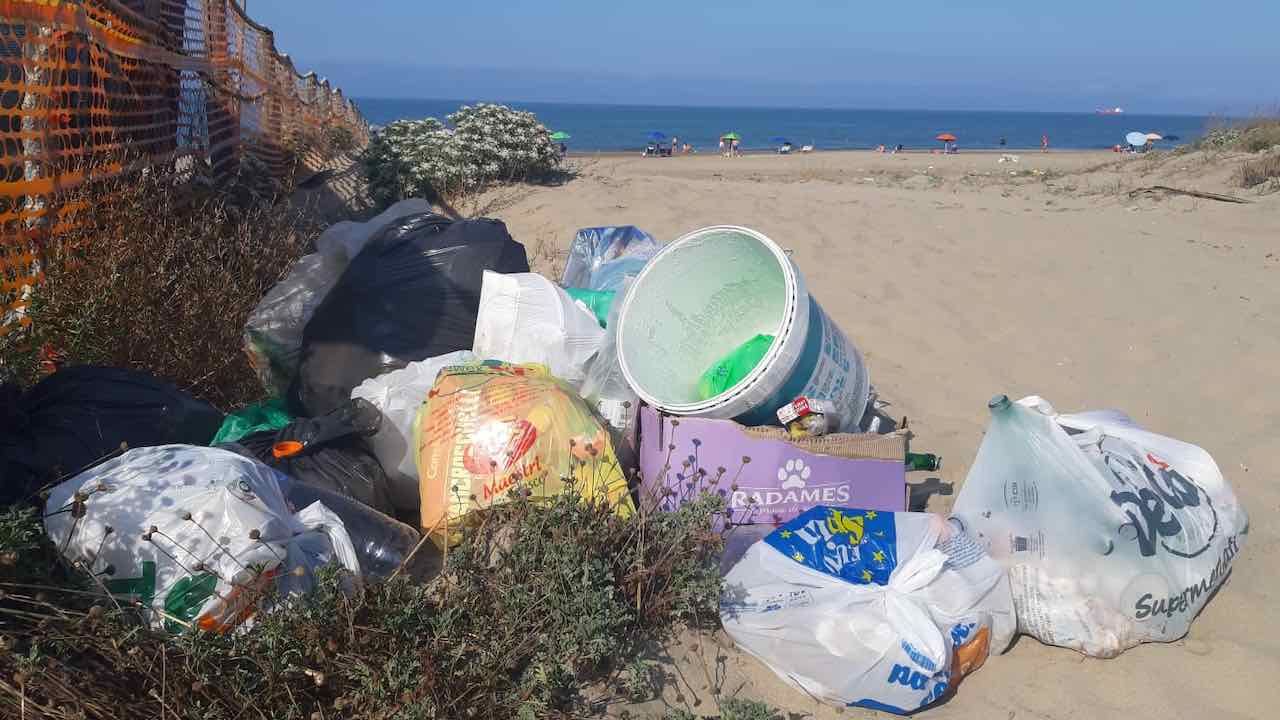
M675 252L680 246L691 242L704 234L710 234L714 232L736 232L745 234L751 240L755 240L756 242L763 245L765 249L769 250L769 252L773 254L774 260L777 260L778 266L782 270L783 284L786 287L786 299L782 307L782 319L780 320L777 329L773 333L773 342L769 345L769 350L764 354L764 357L762 357L760 361L755 364L755 368L753 368L751 372L748 373L746 377L739 380L733 387L726 389L719 395L696 402L664 402L654 397L645 388L640 387L640 384L635 380L635 375L632 374L631 368L627 364L627 355L623 351L622 337L625 337L626 333L628 310L631 307L632 300L635 299L637 288L641 284L644 284L644 279L649 275L653 268L658 265L658 260L660 260L663 256L671 252ZM732 407L736 401L739 401L742 396L748 395L756 386L756 383L760 380L760 378L765 374L767 370L773 369L772 368L773 361L776 361L778 355L782 354L782 347L786 345L787 338L790 338L791 333L794 332L794 328L796 327L797 313L800 310L801 293L808 295L804 287L804 279L800 277L800 273L795 263L791 260L791 256L787 255L786 250L783 250L782 246L780 246L777 242L774 242L769 236L764 234L763 232L744 225L731 225L731 224L707 225L703 228L686 232L685 234L664 245L662 250L659 250L658 254L654 255L645 264L644 269L640 270L640 274L636 275L636 278L631 282L630 287L627 288L627 293L622 300L622 307L618 311L618 366L622 369L622 377L626 379L627 384L631 386L631 389L635 391L636 396L639 396L640 400L643 400L646 405L650 405L672 415L701 415L701 416L726 416L726 418L737 416L748 411L749 407L739 409L737 411L726 415L721 415L719 413L713 413L713 411ZM805 307L805 310L808 307Z

